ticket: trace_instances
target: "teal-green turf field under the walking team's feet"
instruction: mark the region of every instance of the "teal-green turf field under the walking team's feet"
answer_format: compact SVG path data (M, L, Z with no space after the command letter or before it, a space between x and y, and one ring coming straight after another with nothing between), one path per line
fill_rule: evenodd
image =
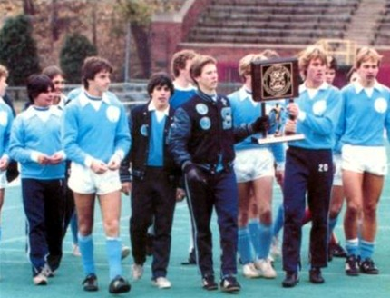
M390 155L389 155L390 156ZM122 241L129 243L129 198L122 199ZM281 194L275 188L274 210L281 203ZM377 248L375 262L381 273L376 276L360 275L347 277L344 273L344 260L334 259L324 270L326 283L313 285L308 282L307 274L307 234L309 225L304 227L304 240L302 245L303 269L300 274L300 283L293 289L284 289L280 283L284 277L281 270L281 260L277 259L275 267L278 277L275 280L248 280L242 277L239 266L239 282L242 284L242 297L288 297L301 298L305 295L332 298L388 298L390 297L390 179L387 177L385 190L379 204L379 224L376 238ZM340 221L341 223L341 221ZM338 224L336 233L343 241L342 225ZM0 243L0 297L1 298L46 298L46 297L110 297L108 293L108 266L105 257L105 240L102 233L102 222L99 208L96 211L95 229L93 233L95 244L95 260L97 263L100 291L97 293L85 293L82 290L83 270L80 258L71 253L71 236L68 234L63 243L63 263L60 270L45 287L37 287L32 283L31 266L24 253L24 210L20 187L18 185L6 189L5 205L2 219L3 235ZM172 233L171 263L168 277L172 288L159 290L151 285L151 260L145 264L145 273L141 281L132 282L131 293L121 296L131 297L219 297L227 293L220 291L208 293L200 288L200 275L195 266L183 266L180 263L186 260L189 246L189 212L187 205L182 202L177 204ZM215 219L214 231L214 262L216 273L219 274L219 242L218 230ZM124 275L130 277L131 256L122 261Z

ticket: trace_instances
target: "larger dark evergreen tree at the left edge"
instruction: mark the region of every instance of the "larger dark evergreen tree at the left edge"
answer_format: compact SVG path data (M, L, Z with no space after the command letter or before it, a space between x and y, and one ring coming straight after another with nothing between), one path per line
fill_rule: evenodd
M0 64L9 70L10 85L24 85L29 75L40 72L29 16L18 15L5 21L0 31Z

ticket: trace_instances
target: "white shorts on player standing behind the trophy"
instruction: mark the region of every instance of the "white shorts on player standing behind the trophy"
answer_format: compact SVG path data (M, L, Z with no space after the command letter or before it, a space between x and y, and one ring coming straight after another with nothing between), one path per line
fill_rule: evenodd
M234 171L237 182L244 183L256 180L265 176L274 176L274 157L266 149L239 150L236 152Z

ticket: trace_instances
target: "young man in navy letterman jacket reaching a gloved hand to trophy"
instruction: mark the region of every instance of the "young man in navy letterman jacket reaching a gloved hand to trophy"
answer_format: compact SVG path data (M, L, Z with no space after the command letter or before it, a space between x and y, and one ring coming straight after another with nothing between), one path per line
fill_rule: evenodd
M238 192L233 171L234 143L268 126L268 117L233 128L229 99L217 94L217 62L207 55L192 61L190 75L198 86L197 94L176 110L171 125L169 146L180 165L195 227L195 248L203 288L216 290L212 265L210 220L217 212L222 291L239 292L236 253L238 236Z

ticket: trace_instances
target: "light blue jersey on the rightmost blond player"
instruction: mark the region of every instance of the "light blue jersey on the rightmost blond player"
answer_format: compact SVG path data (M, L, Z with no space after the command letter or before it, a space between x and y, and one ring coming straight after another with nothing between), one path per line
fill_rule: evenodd
M344 87L341 94L343 104L337 140L341 144L384 146L385 129L390 140L390 89L375 82L367 90L355 82Z

